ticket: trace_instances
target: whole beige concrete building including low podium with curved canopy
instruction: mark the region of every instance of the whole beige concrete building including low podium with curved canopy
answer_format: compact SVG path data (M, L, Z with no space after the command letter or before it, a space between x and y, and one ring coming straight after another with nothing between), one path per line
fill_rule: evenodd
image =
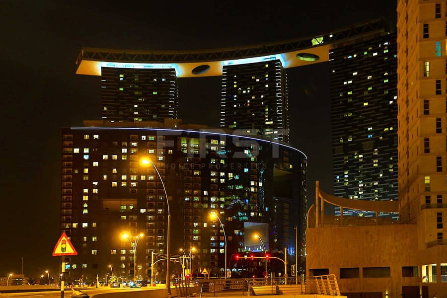
M357 297L447 298L447 7L398 0L397 13L399 202L336 198L317 183L306 273L336 274ZM325 203L376 217L325 216ZM377 217L393 211L398 223Z

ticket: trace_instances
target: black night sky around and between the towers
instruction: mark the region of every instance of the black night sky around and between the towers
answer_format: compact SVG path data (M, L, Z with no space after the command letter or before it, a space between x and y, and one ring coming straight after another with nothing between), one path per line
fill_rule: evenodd
M60 236L61 128L98 119L100 110L99 78L74 74L82 46L220 48L307 37L380 16L396 22L396 0L367 7L352 0L63 2L1 3L0 276L20 273L22 256L27 276L58 270L51 253ZM328 66L288 75L291 143L308 156L312 203L316 179L332 192ZM178 84L179 117L218 126L220 78Z

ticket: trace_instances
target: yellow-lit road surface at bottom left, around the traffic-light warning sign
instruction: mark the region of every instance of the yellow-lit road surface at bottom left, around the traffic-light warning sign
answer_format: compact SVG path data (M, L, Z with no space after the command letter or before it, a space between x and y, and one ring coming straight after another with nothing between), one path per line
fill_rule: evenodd
M138 288L138 289L120 289L120 288L92 288L92 289L86 289L82 290L82 292L88 294L91 296L92 294L100 294L100 293L107 293L107 292L118 292L118 291L126 291L126 292L135 292L135 291L150 291L155 289L161 289L160 287L153 287L153 288ZM72 297L72 290L68 289L64 291L64 297L69 298ZM28 292L28 293L2 293L0 294L1 298L4 297L13 297L13 298L58 298L61 297L61 292Z

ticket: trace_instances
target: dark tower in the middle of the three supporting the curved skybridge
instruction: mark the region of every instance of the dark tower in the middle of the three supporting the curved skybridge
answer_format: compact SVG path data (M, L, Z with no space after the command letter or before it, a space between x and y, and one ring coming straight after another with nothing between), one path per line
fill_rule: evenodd
M221 127L289 140L286 73L279 59L224 66Z

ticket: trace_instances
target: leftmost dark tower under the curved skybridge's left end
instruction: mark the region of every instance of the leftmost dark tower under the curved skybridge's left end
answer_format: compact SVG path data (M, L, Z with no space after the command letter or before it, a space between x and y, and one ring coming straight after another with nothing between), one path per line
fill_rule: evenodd
M101 105L109 121L177 119L175 69L102 67Z

